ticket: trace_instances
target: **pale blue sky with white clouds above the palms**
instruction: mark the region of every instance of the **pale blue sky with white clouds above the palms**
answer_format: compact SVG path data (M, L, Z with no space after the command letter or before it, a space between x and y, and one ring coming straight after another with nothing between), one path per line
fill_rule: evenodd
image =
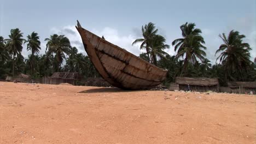
M64 34L86 55L82 40L75 25L79 20L89 31L135 55L139 55L139 44L132 42L142 37L141 27L155 23L166 44L181 38L179 28L185 22L196 24L202 30L207 47L207 58L216 62L216 50L222 44L219 34L228 34L232 29L246 35L244 41L252 47L251 59L256 57L256 0L109 0L109 1L34 1L0 0L0 35L5 39L10 29L19 28L24 38L33 31L41 40L40 54L45 53L45 38ZM173 46L166 50L175 55ZM27 57L26 46L22 54Z

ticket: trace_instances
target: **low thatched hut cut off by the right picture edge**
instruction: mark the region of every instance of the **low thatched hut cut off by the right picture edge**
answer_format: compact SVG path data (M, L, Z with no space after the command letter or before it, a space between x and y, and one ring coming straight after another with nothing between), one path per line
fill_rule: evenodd
M232 81L228 82L230 93L256 93L256 82Z

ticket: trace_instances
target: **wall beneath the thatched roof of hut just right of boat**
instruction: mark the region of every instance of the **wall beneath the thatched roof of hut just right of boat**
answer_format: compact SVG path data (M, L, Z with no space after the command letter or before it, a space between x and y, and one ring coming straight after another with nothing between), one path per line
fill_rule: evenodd
M216 86L189 85L189 88L190 88L190 91L196 91L196 92L207 92L207 91L219 92L218 85L216 85ZM188 85L179 85L179 90L189 91Z

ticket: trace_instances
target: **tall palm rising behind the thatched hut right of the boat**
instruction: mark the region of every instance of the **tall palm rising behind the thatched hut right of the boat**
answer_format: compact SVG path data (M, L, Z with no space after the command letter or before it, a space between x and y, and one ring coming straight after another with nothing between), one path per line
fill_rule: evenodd
M195 28L195 23L186 22L181 26L182 37L172 41L172 45L174 46L174 51L177 52L176 58L184 58L184 66L181 71L181 75L187 69L188 62L191 61L195 63L197 58L200 61L205 59L206 47L202 44L205 44L203 37L201 36L201 29Z

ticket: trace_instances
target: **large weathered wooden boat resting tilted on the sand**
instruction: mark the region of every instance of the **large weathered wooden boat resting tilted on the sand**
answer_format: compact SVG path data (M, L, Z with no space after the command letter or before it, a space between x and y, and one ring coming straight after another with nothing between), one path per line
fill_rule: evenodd
M149 89L165 80L166 69L161 69L147 61L109 43L94 33L75 26L81 35L84 49L92 64L104 80L121 89Z

